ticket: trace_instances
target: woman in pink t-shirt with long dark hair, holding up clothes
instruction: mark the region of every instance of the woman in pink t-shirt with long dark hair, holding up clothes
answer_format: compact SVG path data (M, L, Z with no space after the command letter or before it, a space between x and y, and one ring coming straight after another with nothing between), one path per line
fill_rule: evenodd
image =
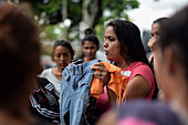
M124 88L126 98L145 97L150 100L155 90L155 80L144 51L139 29L126 20L109 21L106 24L103 46L107 60L115 62L128 79L127 87ZM94 76L100 79L104 85L108 84L109 72L102 63L96 63L91 69L100 71L95 72ZM97 105L102 108L107 107L106 105L109 106L109 103L114 104L116 101L115 93L107 86L106 90L97 100Z

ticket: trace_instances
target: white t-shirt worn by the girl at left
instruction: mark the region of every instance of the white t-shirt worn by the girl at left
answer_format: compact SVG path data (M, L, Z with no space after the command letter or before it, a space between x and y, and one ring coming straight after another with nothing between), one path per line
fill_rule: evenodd
M48 79L56 88L56 91L60 93L61 91L61 81L59 81L53 74L52 69L44 70L41 75L41 77Z

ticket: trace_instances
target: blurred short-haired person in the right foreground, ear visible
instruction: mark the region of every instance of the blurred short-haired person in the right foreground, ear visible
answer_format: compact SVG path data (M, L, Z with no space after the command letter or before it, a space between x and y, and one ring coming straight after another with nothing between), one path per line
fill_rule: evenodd
M165 100L188 125L188 6L177 11L161 29L154 52L154 70ZM155 61L156 60L156 61Z

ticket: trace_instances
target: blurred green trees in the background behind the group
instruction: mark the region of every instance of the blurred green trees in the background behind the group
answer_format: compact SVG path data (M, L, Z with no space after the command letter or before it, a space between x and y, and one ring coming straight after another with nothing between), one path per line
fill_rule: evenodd
M32 4L40 31L45 32L45 41L46 39L55 41L58 34L53 32L55 29L52 27L55 25L58 29L58 27L62 25L62 0L19 1L28 1ZM114 18L128 20L126 10L138 7L139 2L137 0L67 0L66 18L71 20L71 25L67 29L67 40L79 41L83 37L84 29L91 27L95 29L97 37L102 41L105 21ZM61 28L62 30L64 29Z

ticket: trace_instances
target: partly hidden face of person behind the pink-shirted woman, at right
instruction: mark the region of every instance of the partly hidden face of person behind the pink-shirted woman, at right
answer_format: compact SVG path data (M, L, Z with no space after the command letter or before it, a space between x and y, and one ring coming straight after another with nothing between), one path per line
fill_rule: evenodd
M157 39L157 41L159 40L160 37L159 29L160 25L157 22L152 25L152 37Z

